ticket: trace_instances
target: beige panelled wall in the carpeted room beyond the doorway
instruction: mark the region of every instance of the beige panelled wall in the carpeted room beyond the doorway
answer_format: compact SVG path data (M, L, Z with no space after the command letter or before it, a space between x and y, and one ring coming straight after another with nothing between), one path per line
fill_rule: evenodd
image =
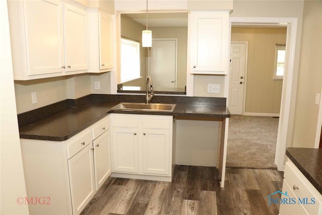
M248 41L247 113L279 113L282 80L273 80L275 44L286 43L286 28L231 28L231 41Z

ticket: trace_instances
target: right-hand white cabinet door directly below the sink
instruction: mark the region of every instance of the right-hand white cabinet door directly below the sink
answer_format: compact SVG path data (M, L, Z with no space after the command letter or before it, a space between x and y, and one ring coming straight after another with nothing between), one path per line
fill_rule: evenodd
M143 129L143 173L170 173L170 131Z

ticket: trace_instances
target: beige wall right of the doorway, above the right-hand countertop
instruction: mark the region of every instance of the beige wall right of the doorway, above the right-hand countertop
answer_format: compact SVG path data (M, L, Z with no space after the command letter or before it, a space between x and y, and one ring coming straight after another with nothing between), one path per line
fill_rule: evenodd
M314 147L322 87L322 1L305 1L292 147ZM320 101L321 105L321 101ZM318 128L320 129L320 128Z

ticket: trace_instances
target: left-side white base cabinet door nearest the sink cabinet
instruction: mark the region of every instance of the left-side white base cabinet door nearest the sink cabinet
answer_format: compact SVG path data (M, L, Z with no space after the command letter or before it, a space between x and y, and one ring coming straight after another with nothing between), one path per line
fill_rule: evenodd
M105 131L93 141L95 187L98 190L111 174L110 131Z

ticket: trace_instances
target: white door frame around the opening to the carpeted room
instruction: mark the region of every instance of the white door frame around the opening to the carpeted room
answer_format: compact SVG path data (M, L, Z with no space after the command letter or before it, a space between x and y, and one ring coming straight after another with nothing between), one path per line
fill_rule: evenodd
M273 17L230 17L229 18L229 40L231 36L231 24L246 24L246 25L281 25L283 23L287 26L286 33L286 73L283 80L282 98L280 108L280 119L278 124L277 143L275 151L275 164L279 171L284 170L284 160L286 152L287 134L290 121L290 110L294 106L291 101L293 82L296 86L296 80L293 80L294 62L295 62L295 48L296 48L296 33L297 33L297 18L273 18ZM229 43L230 46L230 43ZM230 47L229 47L230 49ZM228 64L229 66L229 64ZM229 67L228 67L229 68ZM225 76L225 86L229 86L229 74ZM225 88L224 97L229 95L229 87ZM228 123L225 135L228 134ZM290 125L292 126L292 125ZM291 132L290 132L291 133Z

